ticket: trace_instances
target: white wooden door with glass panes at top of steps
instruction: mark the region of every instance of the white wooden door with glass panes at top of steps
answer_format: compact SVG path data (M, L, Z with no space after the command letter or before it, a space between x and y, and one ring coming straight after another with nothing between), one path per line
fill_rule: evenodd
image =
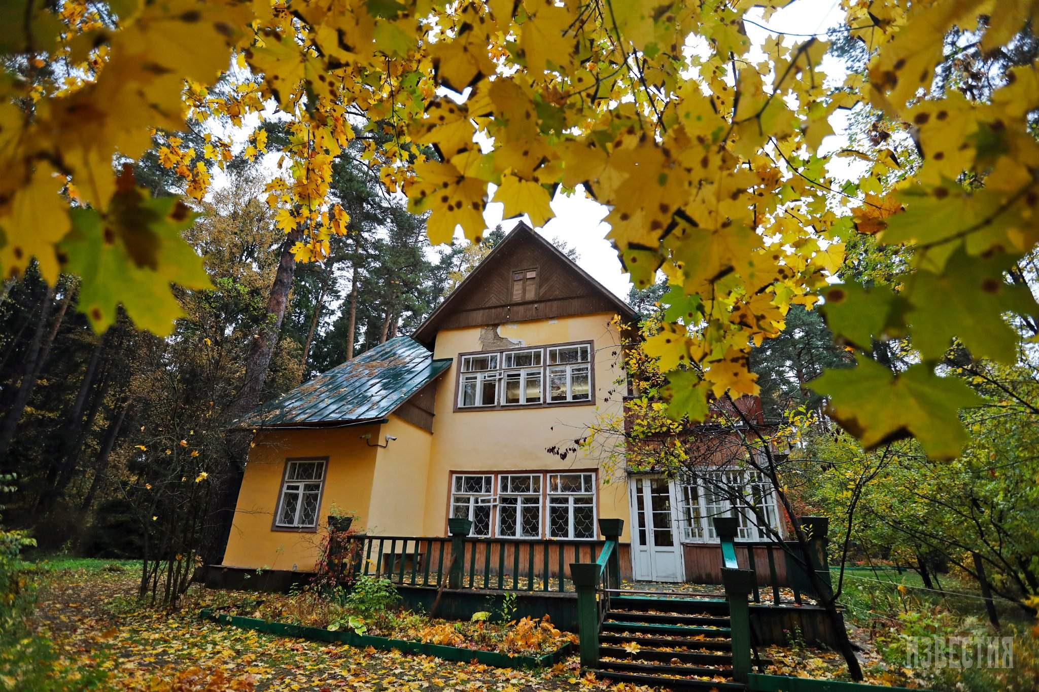
M661 477L630 479L632 554L635 579L673 581L685 578L678 541L678 503L674 483Z

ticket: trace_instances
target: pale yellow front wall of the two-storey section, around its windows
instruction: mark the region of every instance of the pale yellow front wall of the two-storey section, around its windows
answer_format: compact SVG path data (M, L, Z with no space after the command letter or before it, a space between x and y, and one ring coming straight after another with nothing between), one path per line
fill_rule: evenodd
M604 312L557 320L534 320L501 325L499 336L514 347L548 345L591 340L594 355L595 400L588 406L559 406L503 411L454 411L457 360L441 377L426 486L423 533L445 535L451 471L596 469L600 460L587 452L565 460L545 451L554 445L572 446L601 413L619 415L621 397L620 334L610 326L613 313ZM480 351L480 327L443 330L436 335L434 358L455 358ZM610 480L611 482L604 482ZM628 483L623 471L609 478L600 469L598 516L624 520L629 539Z

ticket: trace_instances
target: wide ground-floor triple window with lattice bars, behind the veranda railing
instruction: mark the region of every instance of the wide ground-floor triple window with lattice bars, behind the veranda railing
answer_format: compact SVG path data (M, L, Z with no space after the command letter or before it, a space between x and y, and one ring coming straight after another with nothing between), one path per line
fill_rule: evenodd
M451 489L451 516L472 520L472 536L598 535L594 472L458 473Z

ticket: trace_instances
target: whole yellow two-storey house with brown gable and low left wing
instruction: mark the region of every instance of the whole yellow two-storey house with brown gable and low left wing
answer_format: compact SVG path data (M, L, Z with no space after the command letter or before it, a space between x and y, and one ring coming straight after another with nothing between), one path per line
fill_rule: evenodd
M635 320L520 224L414 335L240 421L255 446L222 566L312 571L339 508L370 536L445 536L449 518L470 519L473 536L531 542L531 564L535 541L572 551L601 537L600 519L623 519L625 576L692 577L694 544L714 534L688 489L607 471L576 444L598 416L622 415L617 324Z

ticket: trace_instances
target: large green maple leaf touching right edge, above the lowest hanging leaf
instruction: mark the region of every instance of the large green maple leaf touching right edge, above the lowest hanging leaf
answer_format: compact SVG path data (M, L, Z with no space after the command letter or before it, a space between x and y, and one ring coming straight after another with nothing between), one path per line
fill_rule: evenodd
M956 336L975 358L1014 362L1018 334L1003 314L1039 313L1027 287L1003 278L1014 260L1007 254L971 257L960 246L941 274L918 271L907 281L912 341L924 358L941 358Z

